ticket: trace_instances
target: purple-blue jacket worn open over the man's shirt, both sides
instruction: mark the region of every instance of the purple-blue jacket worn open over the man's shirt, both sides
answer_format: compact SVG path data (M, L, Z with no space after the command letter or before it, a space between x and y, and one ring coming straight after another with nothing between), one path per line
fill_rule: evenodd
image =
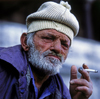
M21 45L0 48L0 99L34 99L34 90L27 90L27 66ZM56 74L51 78L56 80L57 90L45 99L71 99L61 76Z

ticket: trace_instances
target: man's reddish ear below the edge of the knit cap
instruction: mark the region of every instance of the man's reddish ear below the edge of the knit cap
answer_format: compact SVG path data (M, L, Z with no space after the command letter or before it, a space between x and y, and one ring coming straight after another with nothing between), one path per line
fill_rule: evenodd
M21 45L22 45L22 48L24 49L24 51L28 51L29 47L28 47L27 42L26 42L27 41L27 33L23 33L21 35L20 40L21 40Z

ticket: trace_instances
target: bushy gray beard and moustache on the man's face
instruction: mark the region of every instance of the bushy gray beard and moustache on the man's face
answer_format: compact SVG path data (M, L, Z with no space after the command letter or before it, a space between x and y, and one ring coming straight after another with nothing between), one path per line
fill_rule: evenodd
M41 70L42 73L46 75L54 75L59 73L60 68L62 68L62 64L64 63L63 56L58 55L61 58L60 61L59 59L49 57L48 54L56 55L56 53L50 50L40 54L40 52L36 50L34 44L32 43L28 51L28 61L33 67Z

